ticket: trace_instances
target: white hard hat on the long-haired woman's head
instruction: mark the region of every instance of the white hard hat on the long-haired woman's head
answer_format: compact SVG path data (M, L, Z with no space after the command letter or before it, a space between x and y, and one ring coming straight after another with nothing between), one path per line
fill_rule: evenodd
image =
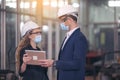
M38 24L36 24L33 21L27 21L22 27L21 27L21 36L23 37L27 31L39 28Z

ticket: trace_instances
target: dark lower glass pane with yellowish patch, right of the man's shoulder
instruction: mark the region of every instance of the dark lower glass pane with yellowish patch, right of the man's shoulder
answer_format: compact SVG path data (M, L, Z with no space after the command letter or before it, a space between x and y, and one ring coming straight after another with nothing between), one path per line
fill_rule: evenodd
M90 29L92 50L113 51L114 50L114 24L94 24Z

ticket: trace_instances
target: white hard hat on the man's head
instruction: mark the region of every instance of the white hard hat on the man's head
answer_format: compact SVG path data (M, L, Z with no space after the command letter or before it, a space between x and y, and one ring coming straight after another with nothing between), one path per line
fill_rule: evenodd
M73 7L72 5L65 5L65 6L59 8L58 17L61 17L66 14L70 14L70 13L77 13L77 12L78 12L78 9Z

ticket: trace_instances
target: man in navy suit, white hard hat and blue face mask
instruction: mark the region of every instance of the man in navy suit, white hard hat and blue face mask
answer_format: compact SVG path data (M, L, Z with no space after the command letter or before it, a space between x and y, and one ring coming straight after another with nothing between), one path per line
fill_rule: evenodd
M85 80L85 57L88 43L77 24L78 10L71 5L58 11L60 27L68 30L61 45L58 60L40 60L41 66L55 66L57 80Z

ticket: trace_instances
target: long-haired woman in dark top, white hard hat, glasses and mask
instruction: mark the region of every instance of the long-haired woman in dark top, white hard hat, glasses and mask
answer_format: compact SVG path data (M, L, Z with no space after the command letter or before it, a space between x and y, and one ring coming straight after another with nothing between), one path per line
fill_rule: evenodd
M40 65L27 64L31 58L25 53L25 50L40 50L37 47L37 43L41 42L41 30L40 27L32 22L28 21L21 28L22 40L20 41L16 54L17 54L17 66L22 80L48 80L47 68Z

